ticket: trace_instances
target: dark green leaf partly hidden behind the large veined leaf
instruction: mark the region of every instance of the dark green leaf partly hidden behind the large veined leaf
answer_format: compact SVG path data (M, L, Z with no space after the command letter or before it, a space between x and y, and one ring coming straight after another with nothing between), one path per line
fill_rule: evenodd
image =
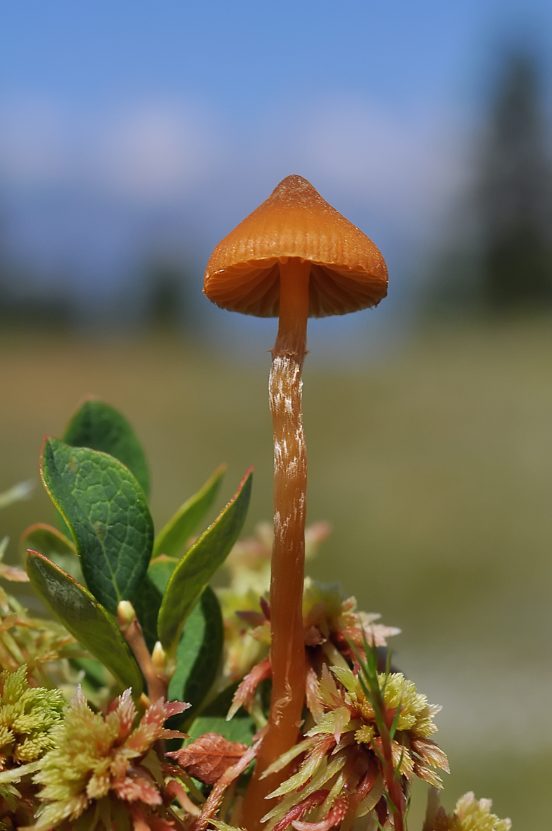
M126 418L109 404L88 398L71 418L62 440L71 447L89 447L115 456L136 476L145 496L150 494L144 450Z

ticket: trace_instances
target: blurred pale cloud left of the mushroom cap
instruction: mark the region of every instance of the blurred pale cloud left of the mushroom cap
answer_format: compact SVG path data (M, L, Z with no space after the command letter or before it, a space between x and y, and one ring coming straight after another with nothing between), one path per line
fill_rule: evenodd
M158 203L209 174L219 150L195 108L154 101L76 111L27 99L0 106L0 171L12 184L71 184Z

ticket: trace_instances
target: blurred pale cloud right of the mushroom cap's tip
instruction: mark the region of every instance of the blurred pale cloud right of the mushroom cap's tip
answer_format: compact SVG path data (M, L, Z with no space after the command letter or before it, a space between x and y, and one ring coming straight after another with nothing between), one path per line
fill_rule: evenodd
M466 163L451 113L385 110L332 96L303 116L298 146L310 167L354 199L402 222L427 221L461 187Z

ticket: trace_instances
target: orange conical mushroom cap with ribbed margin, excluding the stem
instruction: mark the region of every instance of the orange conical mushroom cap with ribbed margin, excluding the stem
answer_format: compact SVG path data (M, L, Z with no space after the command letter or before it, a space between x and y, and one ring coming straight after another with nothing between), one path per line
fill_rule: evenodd
M299 175L283 179L214 248L204 292L229 311L277 317L279 269L288 258L311 263L309 317L356 312L387 294L376 245Z

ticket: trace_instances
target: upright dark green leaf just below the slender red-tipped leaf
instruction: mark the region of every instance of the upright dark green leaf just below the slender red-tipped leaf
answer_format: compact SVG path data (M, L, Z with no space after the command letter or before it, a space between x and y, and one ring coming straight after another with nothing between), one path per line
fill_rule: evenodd
M189 701L197 710L213 686L224 642L219 599L205 588L186 621L176 650L176 672L169 684L169 700Z

